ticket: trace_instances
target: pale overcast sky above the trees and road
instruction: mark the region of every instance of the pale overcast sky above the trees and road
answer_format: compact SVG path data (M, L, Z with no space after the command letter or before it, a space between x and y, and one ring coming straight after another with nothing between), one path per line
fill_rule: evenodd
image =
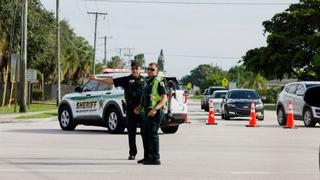
M188 1L297 2L297 0ZM41 0L41 2L46 9L55 11L55 0ZM156 62L160 50L163 49L167 73L178 78L190 74L190 70L200 64L217 65L223 70L237 65L248 50L266 45L262 22L288 8L288 5L131 4L86 0L60 0L60 6L61 18L66 19L75 33L86 38L91 45L94 42L95 16L88 15L87 12L108 13L105 18L103 16L98 18L99 39L96 54L98 62L102 62L104 58L104 40L101 38L107 35L112 36L107 41L107 59L119 55L118 48L132 48L133 55L145 53L147 63ZM128 50L122 52L128 54ZM128 60L128 57L124 59Z

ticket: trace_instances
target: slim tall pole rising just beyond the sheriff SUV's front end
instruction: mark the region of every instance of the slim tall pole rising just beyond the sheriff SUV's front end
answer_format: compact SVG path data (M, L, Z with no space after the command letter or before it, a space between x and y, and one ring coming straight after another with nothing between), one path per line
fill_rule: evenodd
M60 103L61 100L61 61L60 61L60 19L59 19L59 14L60 14L60 0L56 0L56 21L57 21L57 39L56 39L56 58L57 58L57 75L58 75L58 79L57 79L57 106ZM44 88L44 87L43 87Z

